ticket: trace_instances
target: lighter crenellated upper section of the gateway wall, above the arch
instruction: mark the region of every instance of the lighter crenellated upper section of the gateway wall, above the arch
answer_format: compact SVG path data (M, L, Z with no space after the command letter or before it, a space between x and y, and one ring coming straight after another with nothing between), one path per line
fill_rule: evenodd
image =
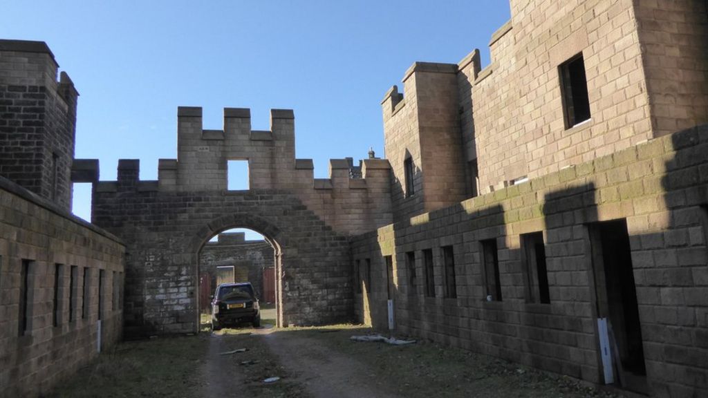
M98 161L79 159L74 175L110 195L200 193L236 196L292 193L339 232L355 234L392 222L390 165L385 159L331 159L329 178L314 178L312 159L295 157L295 116L273 109L270 130L251 130L251 111L225 108L223 130L202 128L202 108L178 108L177 159L159 159L158 179L141 181L139 160L120 159L116 181L98 181ZM248 161L249 191L229 191L228 161ZM96 205L94 195L94 205ZM100 205L100 203L98 203Z

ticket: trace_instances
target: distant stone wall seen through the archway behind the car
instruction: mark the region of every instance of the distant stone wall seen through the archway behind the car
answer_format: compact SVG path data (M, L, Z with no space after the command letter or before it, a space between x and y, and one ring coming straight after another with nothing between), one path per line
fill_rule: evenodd
M244 232L229 232L218 235L217 241L208 241L199 258L200 281L210 278L212 290L217 286L216 268L233 266L237 275L247 275L236 282L251 282L256 297L263 301L263 271L275 266L273 246L267 241L246 241ZM213 293L213 291L212 291ZM204 306L201 306L204 308Z

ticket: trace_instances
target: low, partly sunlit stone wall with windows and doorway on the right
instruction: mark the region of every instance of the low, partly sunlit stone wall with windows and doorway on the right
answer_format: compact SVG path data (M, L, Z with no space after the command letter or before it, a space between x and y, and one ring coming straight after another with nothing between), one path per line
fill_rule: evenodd
M590 233L597 222L626 220L648 392L702 396L708 394L707 205L704 125L361 235L352 244L352 267L360 273L355 291L361 290L355 312L360 322L387 328L384 256L392 256L397 332L603 383ZM530 232L543 234L548 304L528 298L520 235ZM501 301L486 301L485 239L498 247ZM444 297L442 246L454 251L457 297ZM433 251L435 297L425 292L426 249Z

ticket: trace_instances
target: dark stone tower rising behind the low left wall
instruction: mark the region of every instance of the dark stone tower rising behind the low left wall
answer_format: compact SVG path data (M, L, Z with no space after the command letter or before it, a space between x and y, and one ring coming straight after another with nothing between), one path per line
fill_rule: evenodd
M45 42L0 40L0 176L70 210L79 93L58 67Z

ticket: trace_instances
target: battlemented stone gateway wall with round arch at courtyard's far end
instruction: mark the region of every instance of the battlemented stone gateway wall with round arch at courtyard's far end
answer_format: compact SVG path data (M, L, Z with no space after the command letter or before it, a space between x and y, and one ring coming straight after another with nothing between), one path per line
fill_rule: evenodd
M249 161L248 191L227 190L227 161ZM197 331L198 254L218 232L261 232L276 251L278 324L353 316L348 237L392 222L389 164L330 161L313 178L295 159L290 110L271 111L270 131L251 131L248 109L224 110L224 130L202 130L201 108L178 110L178 159L161 159L157 181L120 160L117 181L98 181L97 161L76 161L74 181L93 185L92 222L127 245L125 333Z

